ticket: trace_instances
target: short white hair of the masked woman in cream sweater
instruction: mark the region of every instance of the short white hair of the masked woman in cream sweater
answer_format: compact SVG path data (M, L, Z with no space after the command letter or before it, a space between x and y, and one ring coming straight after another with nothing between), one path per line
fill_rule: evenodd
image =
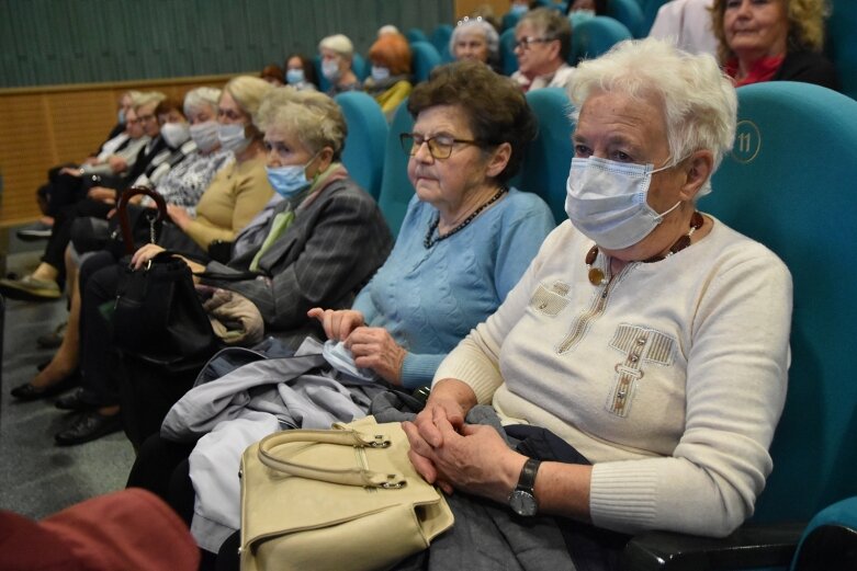
M574 121L587 98L597 92L659 100L673 164L694 151L707 149L714 155L717 170L732 148L737 96L732 81L711 55L688 54L669 42L651 37L628 39L601 57L577 65L568 89Z

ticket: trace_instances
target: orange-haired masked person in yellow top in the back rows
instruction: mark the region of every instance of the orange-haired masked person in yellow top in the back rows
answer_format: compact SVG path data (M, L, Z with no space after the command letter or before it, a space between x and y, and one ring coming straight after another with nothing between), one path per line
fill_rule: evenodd
M383 34L369 48L372 75L363 82L381 111L393 117L398 104L410 94L410 46L402 34Z

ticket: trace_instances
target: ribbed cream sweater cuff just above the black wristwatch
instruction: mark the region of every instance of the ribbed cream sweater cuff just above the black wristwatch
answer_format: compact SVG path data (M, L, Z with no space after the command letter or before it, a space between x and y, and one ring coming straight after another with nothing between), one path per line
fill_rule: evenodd
M640 461L596 464L589 488L593 524L617 532L651 528L657 516L657 470Z

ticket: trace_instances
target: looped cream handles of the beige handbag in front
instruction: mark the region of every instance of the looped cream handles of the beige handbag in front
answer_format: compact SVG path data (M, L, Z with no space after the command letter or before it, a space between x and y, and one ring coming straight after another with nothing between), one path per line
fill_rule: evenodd
M380 473L359 466L347 469L311 466L294 462L273 454L274 448L278 446L291 443L336 444L356 448L387 448L391 442L383 434L360 433L342 423L334 424L334 430L329 431L282 431L262 438L259 443L259 460L269 468L283 473L343 486L395 489L403 488L406 484L405 477L401 473Z

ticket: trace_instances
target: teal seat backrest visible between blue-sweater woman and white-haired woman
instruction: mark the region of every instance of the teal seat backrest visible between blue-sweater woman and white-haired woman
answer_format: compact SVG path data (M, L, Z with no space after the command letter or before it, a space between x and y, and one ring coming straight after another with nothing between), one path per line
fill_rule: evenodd
M527 103L539 122L539 133L527 146L521 170L510 184L541 196L559 224L567 218L565 181L573 153L568 95L561 88L537 89L527 93Z

